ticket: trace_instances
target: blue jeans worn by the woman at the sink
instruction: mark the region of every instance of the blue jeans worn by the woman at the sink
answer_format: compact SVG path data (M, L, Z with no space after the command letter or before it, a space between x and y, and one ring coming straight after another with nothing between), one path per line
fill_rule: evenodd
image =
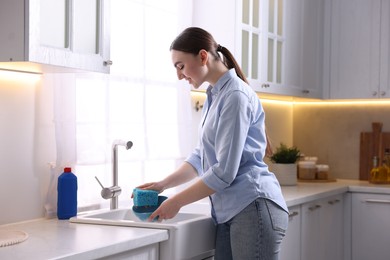
M217 225L215 260L277 260L288 214L258 198L226 223Z

